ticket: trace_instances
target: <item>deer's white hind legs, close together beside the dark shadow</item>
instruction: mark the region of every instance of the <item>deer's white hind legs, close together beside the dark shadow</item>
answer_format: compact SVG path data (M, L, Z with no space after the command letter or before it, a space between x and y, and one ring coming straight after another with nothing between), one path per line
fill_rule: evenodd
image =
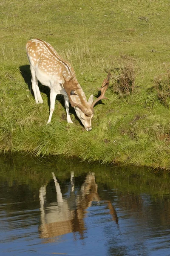
M41 97L41 93L40 93L40 89L38 87L38 80L37 80L37 76L35 74L35 70L32 67L32 65L30 64L30 70L31 70L31 75L32 75L32 90L34 92L34 97L35 97L35 102L36 104L38 103L43 103L43 99Z

